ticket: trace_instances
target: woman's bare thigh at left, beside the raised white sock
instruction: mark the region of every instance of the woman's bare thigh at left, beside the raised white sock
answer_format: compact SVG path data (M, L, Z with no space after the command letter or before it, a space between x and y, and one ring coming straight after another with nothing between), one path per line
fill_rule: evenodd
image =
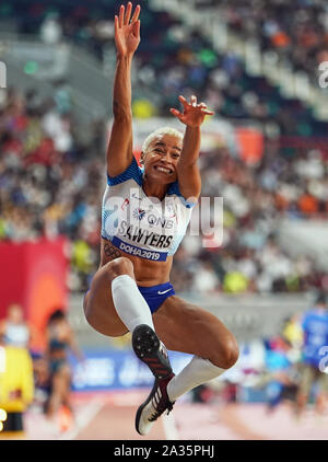
M119 337L128 332L114 307L106 265L95 273L83 309L89 324L101 334Z

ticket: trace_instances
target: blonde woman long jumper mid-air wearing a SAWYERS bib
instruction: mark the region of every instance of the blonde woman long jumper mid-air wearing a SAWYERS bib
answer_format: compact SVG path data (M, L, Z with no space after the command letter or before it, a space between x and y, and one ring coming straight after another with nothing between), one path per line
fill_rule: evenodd
M142 169L132 153L131 62L140 43L140 5L120 7L115 16L117 65L114 123L107 151L107 187L102 208L101 265L84 298L87 322L112 337L132 334L137 357L153 373L154 386L140 405L136 429L153 423L187 391L208 382L237 360L233 334L208 311L175 294L173 256L201 189L197 160L200 126L213 115L196 96L179 96L171 109L185 134L160 128L144 140ZM167 350L194 355L174 374Z

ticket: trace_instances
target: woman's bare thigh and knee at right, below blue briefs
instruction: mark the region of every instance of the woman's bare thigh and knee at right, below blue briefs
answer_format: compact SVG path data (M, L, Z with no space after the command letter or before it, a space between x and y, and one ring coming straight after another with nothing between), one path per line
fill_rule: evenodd
M156 333L172 350L189 353L229 368L238 357L234 335L212 313L173 296L153 315Z

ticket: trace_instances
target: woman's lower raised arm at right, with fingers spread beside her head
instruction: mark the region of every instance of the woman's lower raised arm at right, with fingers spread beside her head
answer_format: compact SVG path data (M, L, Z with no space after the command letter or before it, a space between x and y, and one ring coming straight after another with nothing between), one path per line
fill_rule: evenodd
M184 106L183 113L171 108L171 113L186 125L183 150L177 164L178 184L180 193L186 199L198 198L201 189L200 172L197 165L201 140L200 126L206 115L214 113L209 111L204 103L197 104L195 95L191 96L190 103L184 96L179 96L179 101Z

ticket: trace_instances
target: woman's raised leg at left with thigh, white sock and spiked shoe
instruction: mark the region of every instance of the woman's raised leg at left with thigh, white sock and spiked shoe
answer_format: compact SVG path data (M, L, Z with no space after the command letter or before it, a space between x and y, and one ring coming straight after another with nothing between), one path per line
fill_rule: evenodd
M102 334L132 332L136 355L155 377L172 373L166 348L154 332L150 308L138 289L128 258L116 258L98 269L85 297L84 311L89 323Z

